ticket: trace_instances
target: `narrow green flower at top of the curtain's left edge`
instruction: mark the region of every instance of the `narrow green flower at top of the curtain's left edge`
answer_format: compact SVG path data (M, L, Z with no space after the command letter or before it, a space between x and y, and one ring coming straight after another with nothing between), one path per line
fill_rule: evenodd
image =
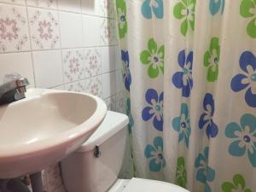
M124 0L116 0L119 38L124 38L127 33L126 5Z

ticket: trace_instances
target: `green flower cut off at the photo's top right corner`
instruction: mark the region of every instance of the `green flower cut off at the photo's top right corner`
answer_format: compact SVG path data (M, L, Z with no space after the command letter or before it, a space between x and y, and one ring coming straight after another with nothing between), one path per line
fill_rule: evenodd
M244 18L252 18L247 25L247 34L252 38L256 38L256 1L242 0L240 15Z

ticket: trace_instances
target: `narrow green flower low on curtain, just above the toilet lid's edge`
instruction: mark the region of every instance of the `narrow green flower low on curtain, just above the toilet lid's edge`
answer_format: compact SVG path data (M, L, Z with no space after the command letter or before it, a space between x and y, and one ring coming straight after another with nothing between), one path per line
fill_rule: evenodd
M187 183L187 171L185 169L185 160L183 157L177 158L177 170L176 170L177 184L183 188Z

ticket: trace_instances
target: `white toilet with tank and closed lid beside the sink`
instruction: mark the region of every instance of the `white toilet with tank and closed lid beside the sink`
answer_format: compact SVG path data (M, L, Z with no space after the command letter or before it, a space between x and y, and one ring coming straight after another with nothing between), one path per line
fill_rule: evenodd
M108 111L90 138L61 161L67 192L189 192L172 183L143 178L118 179L128 121L125 114Z

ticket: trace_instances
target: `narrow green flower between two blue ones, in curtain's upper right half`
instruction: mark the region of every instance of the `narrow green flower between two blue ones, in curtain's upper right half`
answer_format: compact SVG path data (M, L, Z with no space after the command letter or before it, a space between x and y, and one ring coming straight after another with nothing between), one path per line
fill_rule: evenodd
M204 66L208 68L207 80L214 82L218 79L218 61L220 54L220 46L218 38L211 39L210 48L204 55Z

